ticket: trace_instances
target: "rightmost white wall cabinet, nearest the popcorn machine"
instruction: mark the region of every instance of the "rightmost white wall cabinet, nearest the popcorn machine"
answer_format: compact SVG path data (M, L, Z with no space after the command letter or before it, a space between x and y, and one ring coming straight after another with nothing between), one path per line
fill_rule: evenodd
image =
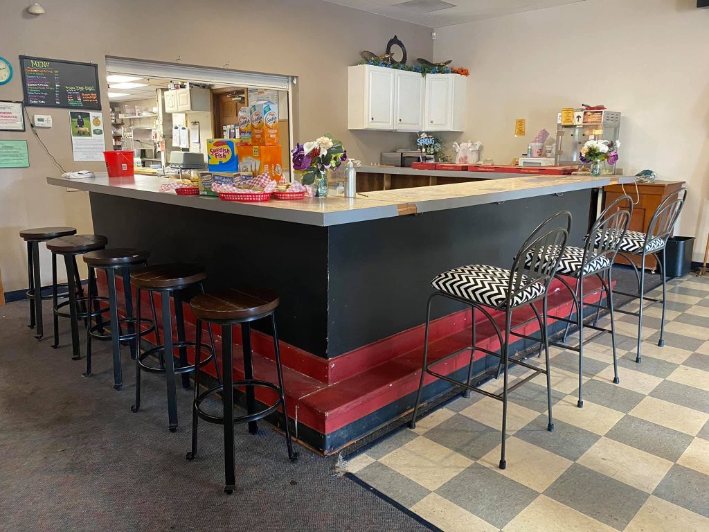
M465 129L465 77L458 74L426 74L423 129Z

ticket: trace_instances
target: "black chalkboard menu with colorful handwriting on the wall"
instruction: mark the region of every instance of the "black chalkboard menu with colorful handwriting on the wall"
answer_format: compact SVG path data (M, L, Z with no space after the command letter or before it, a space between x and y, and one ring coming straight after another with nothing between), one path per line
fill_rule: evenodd
M96 65L21 55L20 70L26 106L101 110Z

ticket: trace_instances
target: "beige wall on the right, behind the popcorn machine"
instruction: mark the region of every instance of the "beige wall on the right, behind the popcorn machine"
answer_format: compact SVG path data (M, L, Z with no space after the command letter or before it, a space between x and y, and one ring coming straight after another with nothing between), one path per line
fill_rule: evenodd
M580 31L575 31L576 29ZM709 231L709 9L695 0L586 0L437 29L437 60L469 68L468 129L507 164L563 106L621 111L619 166L688 183L678 233ZM515 138L515 118L527 137ZM630 189L629 189L630 190Z

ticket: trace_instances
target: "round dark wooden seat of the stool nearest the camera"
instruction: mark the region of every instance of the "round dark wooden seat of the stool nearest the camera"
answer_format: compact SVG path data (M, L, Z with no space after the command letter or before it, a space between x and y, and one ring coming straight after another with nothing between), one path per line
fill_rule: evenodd
M279 304L279 296L264 288L228 288L198 294L189 304L192 313L201 320L237 323L272 313Z

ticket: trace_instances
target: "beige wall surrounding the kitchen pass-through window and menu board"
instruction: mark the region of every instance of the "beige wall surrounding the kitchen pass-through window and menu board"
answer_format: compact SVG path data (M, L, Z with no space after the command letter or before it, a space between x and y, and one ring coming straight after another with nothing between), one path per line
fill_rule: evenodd
M106 55L172 62L180 55L192 65L298 76L296 140L332 133L353 157L378 161L411 135L347 131L347 66L359 52L383 52L395 33L409 57L430 57L430 28L369 15L319 0L51 0L47 14L26 13L27 0L3 0L0 55L15 69L0 87L0 99L21 99L18 55L93 61L105 73ZM182 35L182 45L175 46ZM108 120L106 87L101 87ZM51 114L54 127L40 131L50 152L67 170L102 170L101 163L72 162L68 111L30 108ZM91 231L84 192L50 187L45 178L59 170L32 133L0 132L0 139L28 139L30 168L0 170L0 268L6 291L26 284L26 262L18 231L70 225ZM43 262L43 282L50 279Z

